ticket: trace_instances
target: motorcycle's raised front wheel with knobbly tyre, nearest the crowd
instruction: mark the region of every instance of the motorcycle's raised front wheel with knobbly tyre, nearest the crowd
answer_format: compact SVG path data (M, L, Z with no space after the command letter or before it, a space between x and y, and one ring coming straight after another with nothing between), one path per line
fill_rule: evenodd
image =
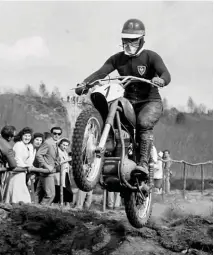
M96 157L103 121L95 109L81 112L77 118L72 142L72 168L77 187L92 190L99 181L102 157Z

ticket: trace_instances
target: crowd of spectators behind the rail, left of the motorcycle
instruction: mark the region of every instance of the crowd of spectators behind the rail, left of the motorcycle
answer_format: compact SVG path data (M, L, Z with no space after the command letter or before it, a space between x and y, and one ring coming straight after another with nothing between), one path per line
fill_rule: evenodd
M77 209L90 208L92 192L80 191L71 167L70 141L62 137L61 127L50 132L33 132L25 127L16 134L14 126L5 126L0 136L0 202L60 202L60 172L63 201Z

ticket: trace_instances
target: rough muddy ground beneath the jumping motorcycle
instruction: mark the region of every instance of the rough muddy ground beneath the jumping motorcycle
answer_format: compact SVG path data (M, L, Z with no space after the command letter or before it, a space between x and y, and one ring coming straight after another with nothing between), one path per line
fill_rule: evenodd
M134 229L124 210L90 211L0 204L0 254L213 254L212 190L155 196L148 224Z

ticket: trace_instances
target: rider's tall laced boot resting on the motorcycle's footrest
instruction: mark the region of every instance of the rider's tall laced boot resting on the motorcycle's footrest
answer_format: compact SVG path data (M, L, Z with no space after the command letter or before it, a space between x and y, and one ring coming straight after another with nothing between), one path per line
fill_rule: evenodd
M151 152L152 136L147 134L141 134L140 136L140 162L136 167L136 170L149 175L149 157Z

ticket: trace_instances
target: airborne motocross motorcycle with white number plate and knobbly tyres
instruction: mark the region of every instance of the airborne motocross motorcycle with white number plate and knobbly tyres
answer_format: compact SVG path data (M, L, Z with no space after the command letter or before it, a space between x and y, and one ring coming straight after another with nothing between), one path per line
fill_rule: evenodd
M149 176L136 170L140 157L136 115L124 97L127 86L136 81L159 87L134 76L100 79L85 86L85 91L91 90L89 97L93 106L84 109L76 120L72 168L80 190L91 191L99 183L107 191L120 192L130 224L142 228L152 212L157 151L152 144Z

